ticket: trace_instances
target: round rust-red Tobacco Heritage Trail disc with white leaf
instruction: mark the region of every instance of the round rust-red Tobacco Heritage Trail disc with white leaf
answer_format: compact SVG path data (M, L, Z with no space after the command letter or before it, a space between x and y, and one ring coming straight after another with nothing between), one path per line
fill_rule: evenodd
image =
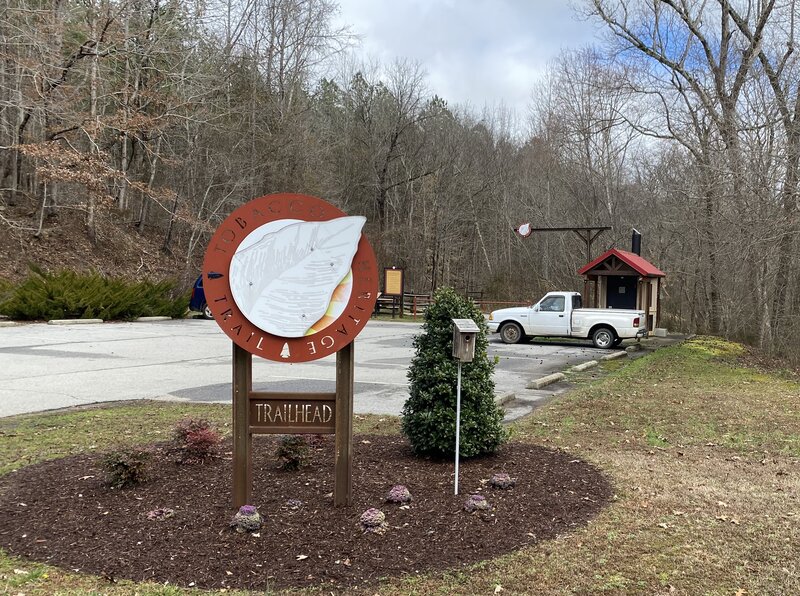
M231 213L203 261L206 302L238 346L276 362L307 362L349 344L378 298L375 253L322 199L274 194Z

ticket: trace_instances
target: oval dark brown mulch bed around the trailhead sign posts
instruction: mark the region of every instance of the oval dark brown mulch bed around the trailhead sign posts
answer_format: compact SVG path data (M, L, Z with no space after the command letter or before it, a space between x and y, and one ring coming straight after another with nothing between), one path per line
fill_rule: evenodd
M1 478L0 546L109 579L204 588L352 588L553 538L586 524L612 492L598 470L568 453L512 443L494 456L463 462L455 496L452 462L414 458L398 436L359 436L355 504L334 508L332 437L313 449L310 465L299 472L278 469L274 437L256 437L253 447L253 504L266 521L259 536L229 529L230 453L204 465L178 465L164 446L155 446L151 480L132 489L109 489L96 455ZM486 481L498 472L516 478L516 486L491 488ZM394 484L410 489L410 508L385 502ZM475 492L493 505L490 514L464 511ZM289 499L303 505L293 509ZM175 515L148 519L162 507ZM390 528L383 536L360 530L359 517L370 507L386 514Z

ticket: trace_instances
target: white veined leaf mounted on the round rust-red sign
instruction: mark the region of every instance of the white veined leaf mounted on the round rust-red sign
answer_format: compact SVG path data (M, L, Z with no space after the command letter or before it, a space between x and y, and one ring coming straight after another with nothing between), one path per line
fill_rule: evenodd
M229 270L236 305L267 333L302 337L350 271L366 221L352 216L292 223L237 251Z

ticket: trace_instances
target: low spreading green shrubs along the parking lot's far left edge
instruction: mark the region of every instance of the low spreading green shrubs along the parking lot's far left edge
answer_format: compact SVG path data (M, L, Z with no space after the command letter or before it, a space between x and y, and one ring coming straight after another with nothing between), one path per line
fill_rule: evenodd
M46 272L31 266L28 276L10 291L0 292L0 314L16 320L182 317L189 305L173 281L131 282L96 271Z

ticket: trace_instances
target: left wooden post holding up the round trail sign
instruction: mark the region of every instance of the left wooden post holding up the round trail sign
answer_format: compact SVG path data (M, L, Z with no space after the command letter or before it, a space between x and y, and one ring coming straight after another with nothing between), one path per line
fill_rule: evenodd
M233 506L252 505L252 435L250 434L250 390L253 355L233 345Z

